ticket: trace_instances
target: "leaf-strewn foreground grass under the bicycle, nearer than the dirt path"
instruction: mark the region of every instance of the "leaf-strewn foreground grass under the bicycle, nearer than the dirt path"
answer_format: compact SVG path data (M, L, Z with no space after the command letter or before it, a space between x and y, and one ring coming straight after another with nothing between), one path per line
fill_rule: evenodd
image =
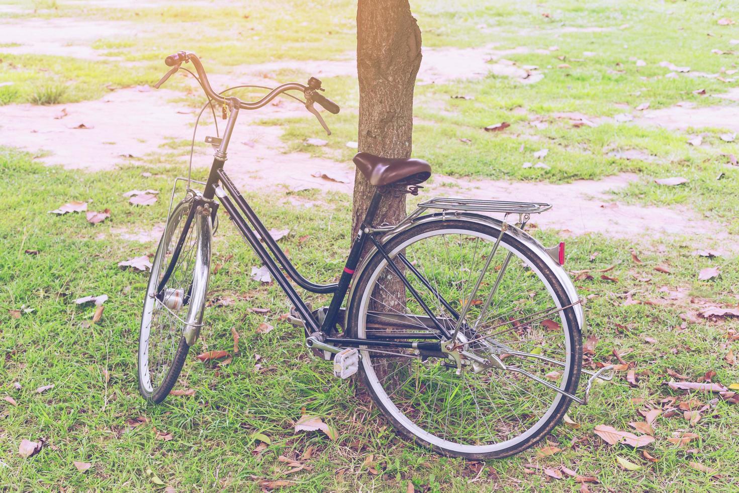
M151 167L150 167L151 166ZM568 268L607 268L619 282L601 279L578 282L589 296L588 336L599 338L593 361L615 361L617 349L638 371L638 388L630 388L619 375L616 382L596 388L588 407L571 408L578 429L559 426L548 440L563 449L550 458L537 459L536 449L510 460L491 461L474 483L478 465L464 460L439 458L398 438L377 409L357 401L351 384L330 377L330 367L310 359L302 349L302 336L292 326L279 321L288 309L282 293L274 285L259 285L250 279L257 265L233 228L222 224L215 243L214 264L222 268L212 277L209 299L230 297L233 305L208 308L208 325L192 354L205 350L232 351L230 327L241 339L234 361L219 370L188 357L182 387L196 390L192 398L171 397L159 407L148 407L137 394L135 344L140 316L140 296L145 273L121 271L117 264L131 256L153 252L153 242L123 241L116 231L147 231L166 214L168 201L161 199L151 208L136 208L122 197L133 188L168 189L166 178L141 177L142 171L171 175L181 170L145 165L120 171L78 174L33 163L27 154L5 149L0 154L0 170L10 178L4 182L2 206L13 211L0 223L5 248L0 253L0 342L1 370L6 375L1 392L12 396L17 407L3 403L0 434L2 457L0 484L11 491L46 491L60 486L76 489L143 490L154 487L151 469L176 489L243 491L256 489L255 478L282 477L285 467L280 455L302 454L315 447L309 461L313 472L290 477L304 491L336 489L359 491L374 487L380 491L404 489L407 480L431 491L489 491L526 489L547 491L576 487L572 480L547 480L544 475L527 475L524 464L537 461L544 466L563 464L580 474L596 475L604 486L625 489L711 489L731 491L739 472L735 434L739 408L718 401L696 425L681 415L658 418L657 441L648 446L657 463L641 459L626 446L607 446L592 434L593 426L609 424L628 429L638 421L639 404L633 398L658 402L683 392L668 390L663 382L667 370L689 375L691 380L707 371L717 373L715 381L728 385L737 380L732 367L723 362L730 346L726 334L739 327L735 322L682 323L678 317L687 306L622 305L624 293L646 302L664 296L661 286L687 288L693 296L721 305L734 305L739 293L739 275L732 269L736 259L704 259L692 255L685 239L661 239L665 253L656 245L641 253L644 264L634 264L630 245L604 237L586 236L568 241ZM10 193L11 190L16 193ZM31 191L33 190L33 193ZM310 192L302 192L310 193ZM324 207L295 208L277 194L268 202L248 194L254 208L269 227L289 227L282 240L299 269L312 279L328 282L341 268L348 247L346 201L330 200ZM316 197L312 197L316 198ZM336 197L338 199L339 197ZM111 208L112 217L99 225L89 225L80 214L55 216L50 208L69 200L91 200L91 209ZM341 205L344 204L344 205ZM534 231L545 244L556 240L548 231ZM308 239L298 239L308 235ZM25 254L38 250L38 255ZM591 256L598 252L594 261ZM651 253L650 253L651 252ZM229 254L234 257L227 259ZM668 265L671 274L653 271ZM718 265L722 276L699 282L697 272ZM18 273L24 275L18 276ZM650 282L637 281L633 276ZM107 294L103 318L90 324L91 307L75 306L73 299ZM309 296L318 306L326 300ZM20 319L8 310L33 309ZM253 313L250 307L268 308L267 314ZM260 336L254 332L261 322L275 329ZM616 325L619 324L619 325ZM619 329L618 327L627 327ZM644 336L657 339L656 344ZM253 370L254 354L268 370ZM103 375L109 375L106 383ZM12 387L21 384L21 390ZM42 394L37 387L55 384ZM695 393L692 398L706 404L712 396ZM333 442L313 433L295 434L292 423L306 412L321 415L338 429ZM130 428L126 420L146 416L149 422ZM172 432L172 441L155 438L154 429ZM672 432L686 429L700 440L679 448L669 441ZM253 435L262 433L270 445L254 455L258 443ZM24 460L16 450L21 438L47 438L49 445L39 455ZM373 455L375 476L362 468ZM126 457L125 461L118 458ZM616 457L631 460L644 469L626 472L615 465ZM93 464L78 472L72 460ZM695 471L689 461L704 463L721 473L711 477ZM342 475L336 475L343 470ZM594 486L593 489L596 489Z

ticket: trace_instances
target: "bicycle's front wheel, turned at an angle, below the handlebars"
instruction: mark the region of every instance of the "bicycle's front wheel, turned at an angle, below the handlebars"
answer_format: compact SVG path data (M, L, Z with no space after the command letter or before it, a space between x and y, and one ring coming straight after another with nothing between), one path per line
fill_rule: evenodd
M189 346L185 330L199 330L211 265L211 217L194 196L174 208L151 265L139 334L138 383L155 404L174 387Z

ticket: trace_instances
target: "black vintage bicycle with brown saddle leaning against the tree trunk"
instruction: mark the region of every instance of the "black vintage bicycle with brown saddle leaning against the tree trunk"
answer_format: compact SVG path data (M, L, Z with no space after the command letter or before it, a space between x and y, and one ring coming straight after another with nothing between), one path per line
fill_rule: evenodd
M217 147L208 180L188 175L185 197L174 208L170 204L154 256L138 356L139 388L147 401L166 398L200 333L220 207L285 291L293 305L289 320L303 327L307 349L333 360L338 378L361 373L395 429L437 453L514 455L547 435L572 401L586 404L596 378L613 378L604 373L610 367L582 369L585 318L562 268L565 244L545 248L523 231L531 214L551 205L437 197L418 203L396 225L373 224L383 197L418 194L431 176L423 160L358 153L355 164L377 188L344 270L330 284L304 278L223 166L239 110L300 91L305 101L297 99L330 134L314 103L332 113L338 105L319 93L324 89L316 78L307 85L283 84L252 103L216 93L191 52L168 56L173 68L155 87L188 62L208 96L206 106L221 104L228 121L222 137L206 137ZM311 310L290 280L313 293L333 294L330 305ZM581 373L590 378L579 398Z

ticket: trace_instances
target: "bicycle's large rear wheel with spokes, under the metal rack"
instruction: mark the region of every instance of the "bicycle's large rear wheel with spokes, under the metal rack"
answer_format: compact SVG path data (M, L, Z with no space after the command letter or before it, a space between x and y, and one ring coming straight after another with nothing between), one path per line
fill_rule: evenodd
M462 358L460 372L445 354L361 349L378 407L403 435L444 455L503 458L534 445L571 399L530 375L571 393L579 382L582 339L565 288L528 245L504 234L495 248L499 237L492 224L420 223L384 245L397 269L375 253L351 299L347 331L358 339L437 342L445 337L433 318L448 333L460 327L457 342L478 358ZM495 358L522 372L480 364Z

